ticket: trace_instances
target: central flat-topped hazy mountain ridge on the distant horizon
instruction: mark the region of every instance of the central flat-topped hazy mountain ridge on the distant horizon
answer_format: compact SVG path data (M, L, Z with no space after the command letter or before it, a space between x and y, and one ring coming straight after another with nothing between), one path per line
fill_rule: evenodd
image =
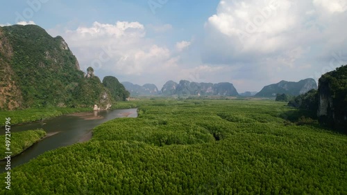
M228 82L212 84L189 82L187 80L180 80L179 84L173 81L168 81L162 87L161 92L162 95L239 95L235 87Z

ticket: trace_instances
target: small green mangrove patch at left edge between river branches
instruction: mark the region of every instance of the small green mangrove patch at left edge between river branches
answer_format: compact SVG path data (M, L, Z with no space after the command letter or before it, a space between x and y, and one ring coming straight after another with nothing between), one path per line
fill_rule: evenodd
M37 129L11 133L10 137L1 135L0 140L5 140L5 137L10 138L11 156L16 156L28 149L28 147L31 147L35 142L41 140L44 136L46 136L46 132L43 129ZM0 145L0 154L5 154L6 151L6 145Z

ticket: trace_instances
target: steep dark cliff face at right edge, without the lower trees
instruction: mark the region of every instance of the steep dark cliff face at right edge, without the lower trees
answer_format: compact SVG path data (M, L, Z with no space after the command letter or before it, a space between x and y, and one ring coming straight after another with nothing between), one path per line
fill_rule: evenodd
M318 91L319 122L347 133L347 66L322 75Z

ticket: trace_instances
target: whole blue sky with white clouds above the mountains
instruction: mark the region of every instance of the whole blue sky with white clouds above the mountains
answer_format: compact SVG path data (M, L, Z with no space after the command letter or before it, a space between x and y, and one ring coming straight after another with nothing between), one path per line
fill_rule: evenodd
M231 82L238 92L347 64L347 0L5 1L0 26L62 36L103 79Z

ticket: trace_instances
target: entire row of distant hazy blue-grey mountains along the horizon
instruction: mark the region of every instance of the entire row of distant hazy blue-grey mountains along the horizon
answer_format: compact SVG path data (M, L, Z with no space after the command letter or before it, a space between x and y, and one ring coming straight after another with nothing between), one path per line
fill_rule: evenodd
M162 89L158 91L155 84L145 84L139 86L138 84L132 84L130 82L122 82L126 87L126 90L130 92L131 96L147 96L147 95L219 95L219 96L245 96L245 97L276 97L278 93L285 93L287 95L301 95L310 91L311 89L317 89L316 81L313 79L305 79L299 82L287 82L282 80L277 84L270 84L264 86L259 93L253 91L246 91L244 93L238 93L235 86L229 82L222 82L219 84L212 83L198 83L189 82L187 80L180 80L179 83L174 81L168 81L162 86Z

